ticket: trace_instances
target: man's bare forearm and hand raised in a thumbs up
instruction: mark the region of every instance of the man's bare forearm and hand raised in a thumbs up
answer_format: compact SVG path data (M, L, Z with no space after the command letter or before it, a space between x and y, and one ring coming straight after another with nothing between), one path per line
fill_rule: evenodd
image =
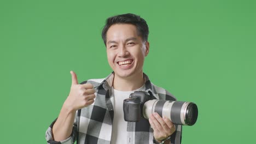
M53 125L53 139L55 141L66 140L72 134L75 111L94 103L95 90L90 83L79 85L77 75L70 71L72 85L69 95L62 106L60 115Z

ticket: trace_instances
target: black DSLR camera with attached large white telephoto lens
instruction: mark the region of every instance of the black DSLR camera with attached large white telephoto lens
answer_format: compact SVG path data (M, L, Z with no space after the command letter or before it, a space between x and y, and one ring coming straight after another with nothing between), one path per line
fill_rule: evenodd
M171 101L151 99L152 93L135 91L128 99L124 100L124 119L127 122L139 122L141 117L149 119L151 113L157 112L165 116L174 124L194 125L197 120L198 110L195 103L186 101Z

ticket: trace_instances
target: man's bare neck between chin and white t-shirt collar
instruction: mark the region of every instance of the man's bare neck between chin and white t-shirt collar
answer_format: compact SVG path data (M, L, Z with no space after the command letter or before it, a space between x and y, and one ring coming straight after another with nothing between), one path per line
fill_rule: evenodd
M131 77L114 76L113 87L118 91L135 91L144 85L143 72Z

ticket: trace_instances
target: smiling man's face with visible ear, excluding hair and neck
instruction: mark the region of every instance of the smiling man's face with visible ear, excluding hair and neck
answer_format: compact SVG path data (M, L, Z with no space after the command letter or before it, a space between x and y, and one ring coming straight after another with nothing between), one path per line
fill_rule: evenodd
M136 26L110 26L107 31L106 47L108 63L116 76L128 78L142 73L144 57L149 52L149 43L138 36Z

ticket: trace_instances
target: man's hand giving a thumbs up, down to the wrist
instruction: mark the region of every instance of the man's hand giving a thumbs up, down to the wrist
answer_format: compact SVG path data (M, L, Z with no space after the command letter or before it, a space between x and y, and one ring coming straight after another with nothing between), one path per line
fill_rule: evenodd
M79 85L77 74L74 71L70 71L70 73L72 85L64 105L71 111L77 111L94 103L94 98L96 97L94 94L95 90L91 83Z

